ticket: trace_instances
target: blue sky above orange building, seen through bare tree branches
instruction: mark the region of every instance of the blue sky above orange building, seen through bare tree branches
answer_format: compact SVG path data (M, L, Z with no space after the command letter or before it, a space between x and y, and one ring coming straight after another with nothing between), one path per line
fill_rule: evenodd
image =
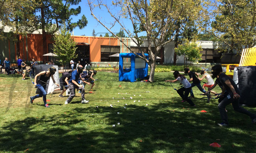
M108 3L110 3L111 1L107 1ZM97 34L96 36L100 36L100 34L102 36L105 35L105 33L109 33L109 31L103 27L100 23L98 23L98 21L96 19L94 19L91 16L91 12L90 12L90 7L88 6L88 2L87 0L82 0L79 5L81 6L81 13L78 16L71 16L73 18L73 22L78 21L79 19L81 19L82 15L84 14L85 17L87 18L88 24L84 29L79 29L79 28L75 28L74 31L74 35L76 36L81 36L81 35L85 35L85 36L91 36L91 34L93 33L93 29L95 30L95 33ZM73 6L73 7L77 7L77 6ZM113 8L113 12L117 13L118 10ZM112 17L109 15L108 12L106 11L102 11L99 10L99 8L97 10L94 11L94 14L96 17L99 17L99 19L106 23L106 26L108 28L110 28L110 24L108 24L110 21L113 21ZM125 23L125 26L127 29L129 29L130 31L133 31L132 29L132 25L131 25L131 21L129 20L123 20L123 22ZM115 24L115 26L113 28L111 28L111 31L114 33L117 33L120 31L120 25L118 23ZM126 33L125 33L126 34ZM110 36L112 34L109 34ZM141 35L146 35L145 33L141 33L139 34L139 36ZM127 36L127 34L126 34Z

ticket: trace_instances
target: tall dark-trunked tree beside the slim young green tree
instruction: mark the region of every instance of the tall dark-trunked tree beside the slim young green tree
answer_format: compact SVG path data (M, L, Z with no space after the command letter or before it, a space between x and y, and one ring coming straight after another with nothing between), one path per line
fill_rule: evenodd
M67 30L72 31L75 27L83 29L88 21L83 15L77 22L71 22L72 15L81 13L81 7L73 8L72 5L78 5L81 0L35 0L37 11L40 12L40 28L43 35L43 54L47 52L46 34L53 34L59 29L60 24L65 24ZM72 8L71 8L72 6ZM47 33L46 33L47 32ZM46 57L44 57L44 62Z

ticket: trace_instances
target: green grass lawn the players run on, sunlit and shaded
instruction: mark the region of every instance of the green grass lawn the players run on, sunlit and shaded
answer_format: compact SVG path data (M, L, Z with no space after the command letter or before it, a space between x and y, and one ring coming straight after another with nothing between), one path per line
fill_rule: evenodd
M30 104L35 88L30 79L21 79L0 74L0 152L256 152L256 125L248 116L228 105L229 126L218 126L218 101L206 103L194 87L196 107L181 102L164 82L174 79L172 72L156 72L154 83L118 82L118 73L98 72L94 93L85 86L89 104L82 104L78 93L68 105L67 97L53 94L47 95L49 108L42 98ZM213 142L222 147L210 147Z

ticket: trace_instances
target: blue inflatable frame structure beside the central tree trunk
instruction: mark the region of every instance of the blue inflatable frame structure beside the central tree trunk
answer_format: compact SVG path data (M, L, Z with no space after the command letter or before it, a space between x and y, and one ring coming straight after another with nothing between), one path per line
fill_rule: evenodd
M137 53L141 55L141 53ZM148 54L144 54L148 59ZM131 66L129 68L124 68L124 57L130 58ZM134 82L137 78L143 79L147 77L148 64L142 60L140 57L137 57L133 53L120 53L119 54L119 81L130 81Z

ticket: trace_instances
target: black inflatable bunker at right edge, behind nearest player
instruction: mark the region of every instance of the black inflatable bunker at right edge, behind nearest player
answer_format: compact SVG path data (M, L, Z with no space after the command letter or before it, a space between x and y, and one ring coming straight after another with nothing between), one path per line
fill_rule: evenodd
M240 104L256 106L256 66L237 67Z

